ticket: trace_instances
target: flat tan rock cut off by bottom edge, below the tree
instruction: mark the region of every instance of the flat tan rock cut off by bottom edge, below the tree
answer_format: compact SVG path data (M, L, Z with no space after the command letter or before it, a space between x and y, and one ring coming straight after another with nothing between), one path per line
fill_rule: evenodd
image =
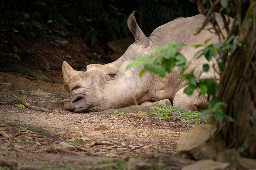
M184 166L181 170L229 170L230 163L215 162L210 159L196 161L188 166Z

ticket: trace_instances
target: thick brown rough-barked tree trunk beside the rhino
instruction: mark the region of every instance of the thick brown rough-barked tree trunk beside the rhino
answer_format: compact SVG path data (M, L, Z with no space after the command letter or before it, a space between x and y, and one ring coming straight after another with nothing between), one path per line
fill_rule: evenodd
M256 1L252 0L239 28L241 47L222 73L218 99L228 104L224 114L234 119L222 127L227 147L245 148L243 155L256 158ZM217 123L217 122L216 122Z

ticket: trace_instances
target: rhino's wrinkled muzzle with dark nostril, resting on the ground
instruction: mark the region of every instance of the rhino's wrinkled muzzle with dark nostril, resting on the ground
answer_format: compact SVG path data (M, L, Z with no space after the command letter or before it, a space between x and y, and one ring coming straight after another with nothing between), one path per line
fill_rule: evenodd
M86 96L83 94L72 95L65 100L64 108L77 113L84 112L87 109L85 107L86 99Z

